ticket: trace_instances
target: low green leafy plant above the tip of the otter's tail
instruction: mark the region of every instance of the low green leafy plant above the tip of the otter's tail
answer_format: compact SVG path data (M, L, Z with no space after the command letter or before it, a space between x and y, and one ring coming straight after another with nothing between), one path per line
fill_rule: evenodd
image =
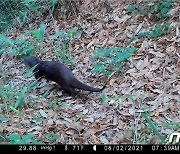
M94 61L99 60L93 66L92 73L111 76L112 73L122 69L123 62L130 58L136 50L135 47L99 48L92 58Z

